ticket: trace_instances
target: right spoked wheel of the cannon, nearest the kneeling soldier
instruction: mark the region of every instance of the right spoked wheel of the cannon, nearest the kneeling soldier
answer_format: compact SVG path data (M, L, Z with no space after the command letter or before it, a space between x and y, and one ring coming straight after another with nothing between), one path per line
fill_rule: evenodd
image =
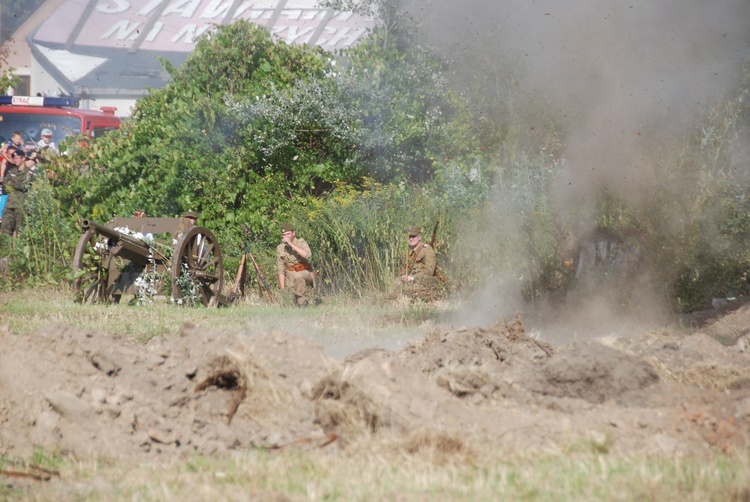
M195 295L194 300L215 307L223 285L224 263L216 236L207 228L191 227L172 257L172 298L188 300Z

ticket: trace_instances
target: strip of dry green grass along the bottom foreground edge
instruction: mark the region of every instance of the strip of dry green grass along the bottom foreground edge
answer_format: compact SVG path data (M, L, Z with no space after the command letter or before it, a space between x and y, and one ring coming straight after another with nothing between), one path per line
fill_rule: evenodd
M746 500L750 457L585 453L458 455L435 462L374 446L353 453L241 452L158 462L64 460L16 492L51 500Z

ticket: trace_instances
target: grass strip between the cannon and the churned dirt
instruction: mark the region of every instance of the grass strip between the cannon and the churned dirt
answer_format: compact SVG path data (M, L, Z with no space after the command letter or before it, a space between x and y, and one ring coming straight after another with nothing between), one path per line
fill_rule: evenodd
M312 338L331 355L344 357L381 346L396 350L424 336L451 311L450 305L378 304L325 297L307 309L243 302L228 308L184 308L157 301L148 306L81 305L66 289L0 293L0 326L16 334L33 334L51 323L145 343L156 336L179 333L186 322L217 333L254 335L283 331Z

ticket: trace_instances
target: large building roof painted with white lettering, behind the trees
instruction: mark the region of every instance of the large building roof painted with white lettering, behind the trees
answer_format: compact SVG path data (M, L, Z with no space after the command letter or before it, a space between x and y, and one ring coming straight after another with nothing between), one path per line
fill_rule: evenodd
M318 0L65 0L27 40L65 92L140 97L168 81L157 56L179 66L215 25L247 19L287 43L327 50L352 46L374 26L370 19L317 5Z

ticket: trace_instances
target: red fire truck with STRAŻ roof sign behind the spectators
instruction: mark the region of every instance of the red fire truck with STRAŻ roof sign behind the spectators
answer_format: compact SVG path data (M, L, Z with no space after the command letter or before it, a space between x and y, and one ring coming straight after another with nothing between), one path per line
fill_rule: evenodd
M78 108L79 103L72 97L0 96L0 141L8 141L13 132L21 131L26 144L36 144L42 129L49 129L59 145L68 136L95 138L120 127L115 108L83 110Z

